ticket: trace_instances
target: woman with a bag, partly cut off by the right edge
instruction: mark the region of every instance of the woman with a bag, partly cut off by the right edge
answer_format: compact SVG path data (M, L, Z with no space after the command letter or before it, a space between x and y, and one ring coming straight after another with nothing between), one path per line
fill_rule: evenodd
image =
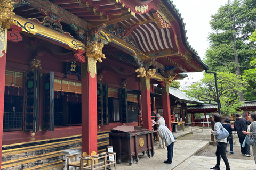
M243 131L243 133L248 135L249 137L253 137L254 142L256 143L255 141L256 140L256 123L254 123L256 121L256 113L250 112L248 119L249 121L251 121L251 124L248 126L247 132ZM254 161L256 163L256 146L255 145L252 146L252 152L253 152Z

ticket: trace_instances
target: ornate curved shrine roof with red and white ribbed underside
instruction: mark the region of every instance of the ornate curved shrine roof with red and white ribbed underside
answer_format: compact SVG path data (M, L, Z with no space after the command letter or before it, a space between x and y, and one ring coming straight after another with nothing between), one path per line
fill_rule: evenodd
M79 40L101 30L99 38L136 56L142 66L173 73L208 70L189 45L185 23L169 0L15 0L14 12L24 18L45 16L67 24ZM23 4L22 4L23 3ZM103 28L103 27L102 27ZM63 28L67 30L67 28ZM175 70L174 70L175 69Z

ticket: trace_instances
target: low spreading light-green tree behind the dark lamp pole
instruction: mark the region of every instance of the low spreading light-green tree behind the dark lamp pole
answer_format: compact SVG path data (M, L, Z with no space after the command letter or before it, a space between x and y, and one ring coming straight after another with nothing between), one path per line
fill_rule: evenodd
M241 107L238 93L246 89L247 81L241 81L240 76L229 72L217 72L217 84L222 116L236 113ZM213 74L204 74L204 78L192 84L187 90L187 95L194 97L205 104L217 103L215 79Z

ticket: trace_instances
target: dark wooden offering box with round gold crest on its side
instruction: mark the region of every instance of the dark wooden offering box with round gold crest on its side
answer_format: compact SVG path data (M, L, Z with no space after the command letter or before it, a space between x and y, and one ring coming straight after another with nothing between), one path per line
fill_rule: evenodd
M118 164L122 161L123 155L128 156L130 165L133 162L133 155L136 163L139 161L138 154L141 152L144 155L147 151L149 158L149 153L154 156L153 131L135 126L118 126L110 130L109 143L116 152Z

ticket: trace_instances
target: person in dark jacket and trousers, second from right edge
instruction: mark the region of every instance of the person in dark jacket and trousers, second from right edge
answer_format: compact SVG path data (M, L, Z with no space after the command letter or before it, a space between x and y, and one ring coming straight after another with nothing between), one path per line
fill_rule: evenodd
M251 157L250 145L245 144L245 147L244 148L242 147L244 138L246 136L246 134L244 134L243 131L247 132L247 125L250 125L251 122L241 117L242 116L240 113L236 113L236 121L234 122L234 131L237 131L242 155Z

